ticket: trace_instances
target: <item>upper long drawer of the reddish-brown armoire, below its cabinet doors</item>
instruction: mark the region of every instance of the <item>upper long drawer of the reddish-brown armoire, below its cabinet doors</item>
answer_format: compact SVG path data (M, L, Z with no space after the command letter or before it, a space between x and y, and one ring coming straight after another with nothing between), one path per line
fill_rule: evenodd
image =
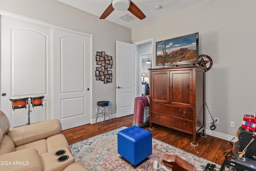
M188 107L178 107L164 103L152 102L151 111L193 120L193 109Z

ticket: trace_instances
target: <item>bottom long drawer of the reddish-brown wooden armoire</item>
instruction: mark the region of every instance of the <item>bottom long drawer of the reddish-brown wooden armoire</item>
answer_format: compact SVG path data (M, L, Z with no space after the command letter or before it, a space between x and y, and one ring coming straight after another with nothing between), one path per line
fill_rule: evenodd
M151 120L156 123L161 123L184 131L193 132L193 122L183 119L174 118L168 115L162 115L160 113L151 112Z

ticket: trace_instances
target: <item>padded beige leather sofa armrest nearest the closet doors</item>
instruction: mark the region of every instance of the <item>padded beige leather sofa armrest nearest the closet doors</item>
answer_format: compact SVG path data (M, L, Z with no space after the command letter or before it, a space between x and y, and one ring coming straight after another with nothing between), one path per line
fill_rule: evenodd
M7 135L14 141L15 147L45 139L60 133L62 127L58 119L51 119L11 129Z

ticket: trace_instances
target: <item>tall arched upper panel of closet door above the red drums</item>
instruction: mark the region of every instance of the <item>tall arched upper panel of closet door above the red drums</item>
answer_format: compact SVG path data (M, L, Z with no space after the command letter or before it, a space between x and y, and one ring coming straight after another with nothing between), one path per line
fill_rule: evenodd
M46 94L47 35L18 28L11 37L13 95Z

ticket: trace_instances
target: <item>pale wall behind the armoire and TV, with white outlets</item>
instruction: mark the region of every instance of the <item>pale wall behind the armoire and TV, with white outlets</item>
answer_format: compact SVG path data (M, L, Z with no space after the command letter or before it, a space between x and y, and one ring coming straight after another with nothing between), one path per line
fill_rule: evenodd
M132 42L153 38L154 46L161 40L199 32L199 54L213 60L212 69L206 72L206 103L220 122L210 131L212 119L206 109L208 134L234 137L244 114L256 112L255 6L255 0L205 0L132 29ZM235 128L230 121L235 121Z

